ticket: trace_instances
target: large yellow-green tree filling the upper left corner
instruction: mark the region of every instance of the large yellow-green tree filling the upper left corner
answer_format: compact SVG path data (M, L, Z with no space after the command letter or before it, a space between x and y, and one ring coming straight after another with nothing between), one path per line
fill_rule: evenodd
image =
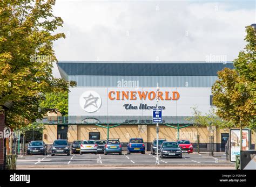
M0 1L0 106L12 103L6 112L12 128L42 118L46 111L39 101L45 93L68 91L68 82L52 75L52 63L57 61L53 41L65 38L55 32L63 20L52 14L54 4L53 0Z

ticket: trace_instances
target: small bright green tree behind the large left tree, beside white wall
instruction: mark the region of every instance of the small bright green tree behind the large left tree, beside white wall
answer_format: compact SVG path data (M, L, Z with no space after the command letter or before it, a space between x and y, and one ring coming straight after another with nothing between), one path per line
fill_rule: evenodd
M57 109L62 116L66 116L69 112L68 110L68 99L69 93L68 91L63 92L54 92L54 93L46 93L45 98L42 100L40 106L49 111L55 111L52 109Z

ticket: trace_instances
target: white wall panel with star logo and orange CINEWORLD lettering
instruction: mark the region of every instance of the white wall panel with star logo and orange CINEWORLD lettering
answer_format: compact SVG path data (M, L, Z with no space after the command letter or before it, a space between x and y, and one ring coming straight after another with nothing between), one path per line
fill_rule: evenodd
M191 107L210 109L211 88L160 88L158 109L165 116L192 116ZM69 92L69 116L152 116L156 88L75 87Z

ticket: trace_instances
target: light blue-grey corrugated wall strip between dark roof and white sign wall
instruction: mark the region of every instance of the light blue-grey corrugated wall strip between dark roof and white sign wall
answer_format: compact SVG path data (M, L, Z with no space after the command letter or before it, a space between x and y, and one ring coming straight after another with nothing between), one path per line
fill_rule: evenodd
M217 76L69 76L77 87L212 87ZM130 81L130 82L129 82ZM121 86L120 86L121 85Z

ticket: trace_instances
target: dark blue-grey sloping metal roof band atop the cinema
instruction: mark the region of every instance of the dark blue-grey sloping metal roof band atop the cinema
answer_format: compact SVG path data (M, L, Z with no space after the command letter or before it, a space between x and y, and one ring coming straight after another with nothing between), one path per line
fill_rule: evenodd
M68 76L217 76L233 63L220 62L96 62L59 61L58 67Z

